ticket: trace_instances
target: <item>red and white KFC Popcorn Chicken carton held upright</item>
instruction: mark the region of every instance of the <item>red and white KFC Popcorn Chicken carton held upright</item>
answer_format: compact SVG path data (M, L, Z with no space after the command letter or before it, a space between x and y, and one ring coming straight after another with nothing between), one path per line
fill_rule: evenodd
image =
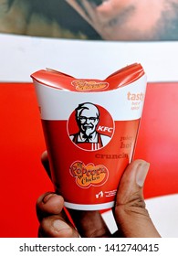
M120 69L106 80L77 79L52 69L31 77L52 180L65 206L112 208L141 121L146 91L141 64Z

